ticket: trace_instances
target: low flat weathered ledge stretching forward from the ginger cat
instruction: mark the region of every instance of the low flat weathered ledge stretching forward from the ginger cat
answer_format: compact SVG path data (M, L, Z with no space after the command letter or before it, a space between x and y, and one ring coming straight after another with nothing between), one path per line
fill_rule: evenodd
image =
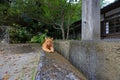
M41 52L36 80L87 80L58 53Z

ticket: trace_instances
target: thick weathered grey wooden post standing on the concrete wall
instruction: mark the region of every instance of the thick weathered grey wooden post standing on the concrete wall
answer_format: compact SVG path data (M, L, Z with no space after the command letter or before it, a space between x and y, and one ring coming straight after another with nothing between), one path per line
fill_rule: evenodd
M100 39L100 0L82 0L82 40Z

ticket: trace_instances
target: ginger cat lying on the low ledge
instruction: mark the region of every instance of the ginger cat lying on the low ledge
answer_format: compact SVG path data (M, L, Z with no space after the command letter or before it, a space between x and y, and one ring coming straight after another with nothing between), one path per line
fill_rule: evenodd
M54 52L54 48L53 48L53 38L45 38L44 43L42 44L42 49L45 52Z

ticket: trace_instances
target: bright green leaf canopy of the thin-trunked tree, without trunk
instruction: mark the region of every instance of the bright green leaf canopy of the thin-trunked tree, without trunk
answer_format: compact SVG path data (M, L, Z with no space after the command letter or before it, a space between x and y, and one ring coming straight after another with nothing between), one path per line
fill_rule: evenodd
M67 22L68 17L71 18L71 21L79 20L81 17L81 0L77 4L66 0L43 0L42 3L42 17L45 17L44 19L49 20L51 23L60 23L62 17L64 17L65 22Z

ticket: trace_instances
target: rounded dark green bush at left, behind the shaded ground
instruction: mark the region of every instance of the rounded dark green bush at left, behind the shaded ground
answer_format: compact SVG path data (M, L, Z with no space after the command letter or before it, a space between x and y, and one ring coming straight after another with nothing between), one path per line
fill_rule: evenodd
M21 27L19 25L14 24L16 27L10 28L10 42L11 43L26 43L30 40L32 34L27 31L26 27Z

